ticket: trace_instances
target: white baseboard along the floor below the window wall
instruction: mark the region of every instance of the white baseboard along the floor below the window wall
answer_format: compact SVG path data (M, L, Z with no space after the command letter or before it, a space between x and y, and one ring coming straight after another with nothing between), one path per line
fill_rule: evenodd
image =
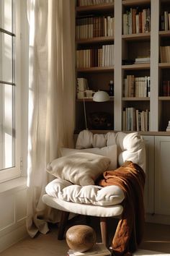
M14 229L9 233L4 234L4 236L0 237L0 252L4 251L4 249L11 247L13 244L16 244L27 236L28 234L25 223L24 225L17 227L17 229Z

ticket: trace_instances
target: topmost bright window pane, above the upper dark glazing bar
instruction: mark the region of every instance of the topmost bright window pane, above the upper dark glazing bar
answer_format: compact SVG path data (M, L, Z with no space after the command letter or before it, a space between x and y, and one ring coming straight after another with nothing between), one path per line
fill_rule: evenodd
M0 1L0 27L12 32L12 0Z

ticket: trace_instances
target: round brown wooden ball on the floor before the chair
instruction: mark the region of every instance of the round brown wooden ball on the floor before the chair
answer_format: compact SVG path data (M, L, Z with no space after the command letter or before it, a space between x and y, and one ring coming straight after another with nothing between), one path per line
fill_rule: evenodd
M79 252L85 252L97 241L97 234L90 226L76 225L72 226L66 232L66 242L70 249Z

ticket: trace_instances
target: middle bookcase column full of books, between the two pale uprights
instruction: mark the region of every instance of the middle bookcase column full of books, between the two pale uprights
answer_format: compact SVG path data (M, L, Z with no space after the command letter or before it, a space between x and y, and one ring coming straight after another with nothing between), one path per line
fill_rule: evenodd
M122 1L122 19L122 129L148 132L151 2Z

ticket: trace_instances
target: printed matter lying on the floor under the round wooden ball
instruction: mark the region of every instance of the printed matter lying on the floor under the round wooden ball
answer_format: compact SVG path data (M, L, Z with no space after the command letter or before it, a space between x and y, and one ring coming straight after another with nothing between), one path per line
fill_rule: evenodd
M86 252L78 252L78 251L73 251L72 249L68 250L67 253L68 256L109 256L111 255L111 252L107 247L105 247L104 244L94 244L94 246L89 249Z

